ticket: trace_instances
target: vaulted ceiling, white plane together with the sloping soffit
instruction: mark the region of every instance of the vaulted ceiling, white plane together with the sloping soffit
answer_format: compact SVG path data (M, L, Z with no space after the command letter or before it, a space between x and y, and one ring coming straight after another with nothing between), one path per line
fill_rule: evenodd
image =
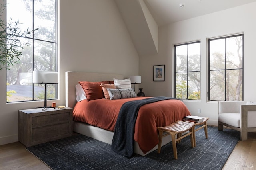
M158 53L158 27L256 0L115 0L139 56ZM180 8L180 4L184 4Z

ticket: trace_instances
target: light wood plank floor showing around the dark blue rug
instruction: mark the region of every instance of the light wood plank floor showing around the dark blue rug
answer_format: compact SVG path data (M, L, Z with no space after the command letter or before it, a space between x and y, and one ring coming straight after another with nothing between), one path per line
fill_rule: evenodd
M0 146L0 170L50 170L20 143ZM239 141L223 170L256 170L256 133L248 141Z

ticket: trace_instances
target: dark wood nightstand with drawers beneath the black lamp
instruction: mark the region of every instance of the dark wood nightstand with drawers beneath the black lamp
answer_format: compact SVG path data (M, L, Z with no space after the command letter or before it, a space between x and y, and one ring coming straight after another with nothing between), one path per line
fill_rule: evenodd
M69 137L73 133L73 109L18 111L18 140L26 147Z

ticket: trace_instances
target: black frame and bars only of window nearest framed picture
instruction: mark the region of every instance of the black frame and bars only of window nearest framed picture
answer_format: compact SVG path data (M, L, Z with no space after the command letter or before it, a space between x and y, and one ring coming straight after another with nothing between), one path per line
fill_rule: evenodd
M195 43L200 43L200 71L188 71L188 45L190 44L195 44ZM182 44L177 44L177 45L174 45L174 97L176 97L176 74L178 73L176 71L176 47L178 46L182 46L182 45L187 45L187 70L186 70L186 74L187 74L187 98L182 98L184 100L201 100L201 41L198 40L198 41L193 41L193 42L188 42L188 43L182 43ZM189 72L200 72L200 99L189 99L188 98L188 73Z

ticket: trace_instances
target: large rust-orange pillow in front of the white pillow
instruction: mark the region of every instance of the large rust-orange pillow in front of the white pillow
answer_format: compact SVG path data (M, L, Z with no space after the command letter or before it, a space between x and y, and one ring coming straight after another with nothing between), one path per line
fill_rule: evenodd
M102 81L102 82L81 81L81 82L78 82L78 83L84 89L87 101L95 100L95 99L102 99L102 98L105 97L100 84L101 83L108 84L108 81Z

